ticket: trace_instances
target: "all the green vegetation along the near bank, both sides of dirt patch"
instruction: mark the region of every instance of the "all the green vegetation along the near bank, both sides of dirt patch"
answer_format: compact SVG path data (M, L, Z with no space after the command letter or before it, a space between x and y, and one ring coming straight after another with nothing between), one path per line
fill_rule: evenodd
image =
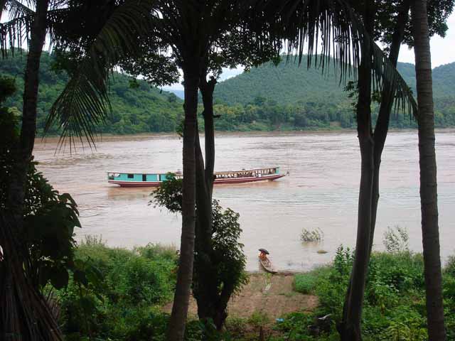
M375 252L370 260L363 313L365 340L427 340L422 255L391 250ZM91 259L103 279L87 287L70 279L66 288L55 291L67 340L164 340L168 314L161 306L172 298L175 286L175 249L153 244L118 249L87 237L75 249L75 258ZM221 339L213 340L257 340L260 328L267 340L338 340L336 323L352 261L353 252L339 247L332 264L295 275L297 292L319 298L313 312L297 311L278 320L269 318L267 311L257 311L250 318L230 316L222 336L218 334ZM444 298L447 340L455 340L455 257L444 269ZM309 326L327 314L331 323L314 335ZM200 340L205 328L190 319L186 340Z

